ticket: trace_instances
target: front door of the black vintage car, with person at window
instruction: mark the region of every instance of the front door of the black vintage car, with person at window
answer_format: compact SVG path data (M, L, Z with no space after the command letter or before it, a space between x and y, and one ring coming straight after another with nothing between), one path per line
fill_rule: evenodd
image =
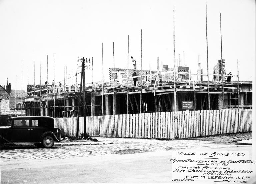
M30 142L29 119L14 119L7 134L8 140L12 142Z

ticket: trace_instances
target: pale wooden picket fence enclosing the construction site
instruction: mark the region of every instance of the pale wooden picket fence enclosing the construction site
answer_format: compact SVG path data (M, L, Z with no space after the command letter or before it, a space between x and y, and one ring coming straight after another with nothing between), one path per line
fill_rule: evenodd
M252 109L158 112L86 117L92 137L182 139L252 131ZM55 118L65 135L76 136L77 118ZM83 133L80 117L79 136Z

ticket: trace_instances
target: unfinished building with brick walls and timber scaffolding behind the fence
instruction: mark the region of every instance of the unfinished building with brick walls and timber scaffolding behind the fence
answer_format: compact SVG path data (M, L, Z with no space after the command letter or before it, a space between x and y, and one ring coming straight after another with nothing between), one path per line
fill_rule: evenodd
M162 65L161 71L138 70L135 77L134 70L109 68L109 81L89 86L82 84L82 79L74 85L27 85L23 108L26 116L51 117L183 111L186 101L192 101L191 110L252 108L252 81L227 82L228 75L220 71L225 66L219 64L221 60L210 74L212 81L203 80L207 75L200 68L193 74L187 66L174 70ZM198 80L193 81L192 76ZM138 78L136 86L134 78Z

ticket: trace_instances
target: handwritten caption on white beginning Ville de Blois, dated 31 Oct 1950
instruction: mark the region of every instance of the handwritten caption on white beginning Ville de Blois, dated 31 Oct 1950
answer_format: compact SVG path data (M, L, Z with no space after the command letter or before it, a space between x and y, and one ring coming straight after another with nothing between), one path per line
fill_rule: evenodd
M255 175L255 161L247 152L175 152L170 161L177 183L248 183Z

